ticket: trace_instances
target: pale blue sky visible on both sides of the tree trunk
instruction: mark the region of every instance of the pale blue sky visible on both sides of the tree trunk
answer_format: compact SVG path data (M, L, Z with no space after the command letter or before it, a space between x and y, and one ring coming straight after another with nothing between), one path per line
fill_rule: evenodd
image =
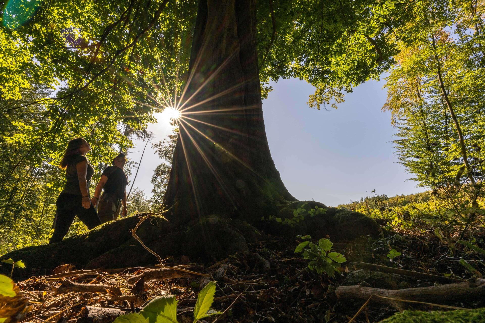
M314 92L307 82L287 79L272 84L274 90L263 101L266 134L276 168L295 198L338 205L372 195L372 189L388 196L423 191L396 163L391 142L395 129L390 113L381 111L386 101L383 85L383 80L368 81L346 94L337 110L317 110L307 106ZM158 119L148 126L154 141L171 131L163 113ZM145 142L136 143L128 157L138 162ZM148 144L134 183L147 196L160 163Z

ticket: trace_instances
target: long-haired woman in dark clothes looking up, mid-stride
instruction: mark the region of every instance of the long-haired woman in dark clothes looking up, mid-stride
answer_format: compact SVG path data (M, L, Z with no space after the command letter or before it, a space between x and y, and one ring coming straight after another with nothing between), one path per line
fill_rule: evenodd
M86 158L90 150L91 147L83 138L72 139L67 144L60 166L66 170L67 182L57 198L54 233L49 244L62 241L76 215L88 229L101 224L89 198L89 182L94 174L94 168Z

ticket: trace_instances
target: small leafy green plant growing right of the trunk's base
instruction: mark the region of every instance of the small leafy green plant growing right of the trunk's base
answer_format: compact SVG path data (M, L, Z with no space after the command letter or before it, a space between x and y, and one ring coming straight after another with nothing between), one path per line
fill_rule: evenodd
M297 238L306 240L300 243L295 253L303 252L303 258L308 259L308 269L316 271L318 274L326 273L330 277L335 277L335 272L339 272L340 264L347 261L342 254L330 252L333 243L325 238L318 241L318 244L311 242L309 235L297 235Z

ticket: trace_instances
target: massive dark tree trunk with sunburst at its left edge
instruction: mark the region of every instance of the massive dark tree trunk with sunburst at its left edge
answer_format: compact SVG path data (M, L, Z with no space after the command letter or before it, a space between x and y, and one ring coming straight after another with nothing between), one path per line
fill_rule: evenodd
M199 3L164 198L172 223L210 214L246 219L295 200L275 168L264 129L255 2Z

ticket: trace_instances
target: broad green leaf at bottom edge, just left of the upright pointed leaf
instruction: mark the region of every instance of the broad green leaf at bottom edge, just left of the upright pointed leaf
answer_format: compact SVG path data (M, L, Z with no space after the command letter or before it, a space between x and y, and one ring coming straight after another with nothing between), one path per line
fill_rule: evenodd
M140 314L148 320L148 323L177 323L177 303L173 295L155 297L140 311Z

